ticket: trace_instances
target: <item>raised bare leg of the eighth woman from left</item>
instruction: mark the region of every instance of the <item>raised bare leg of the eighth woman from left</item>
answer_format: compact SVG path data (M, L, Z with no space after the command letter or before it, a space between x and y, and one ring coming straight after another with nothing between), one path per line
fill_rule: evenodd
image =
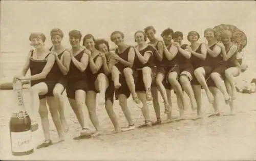
M160 94L162 95L163 97L163 100L164 100L164 113L169 113L170 111L170 105L168 103L168 99L167 99L167 94L166 94L166 90L165 90L165 87L163 85L163 80L164 80L164 75L161 74L161 73L158 73L157 74L157 78L156 78L156 83L158 85L158 88L160 90Z

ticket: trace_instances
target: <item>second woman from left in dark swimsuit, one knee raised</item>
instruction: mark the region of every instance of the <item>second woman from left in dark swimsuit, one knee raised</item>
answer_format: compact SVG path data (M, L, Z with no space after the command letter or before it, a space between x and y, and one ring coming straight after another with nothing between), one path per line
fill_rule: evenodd
M59 118L63 130L67 132L69 130L69 126L65 119L62 93L67 86L66 76L69 72L71 58L70 53L61 45L63 32L60 29L55 28L52 29L50 35L53 44L53 47L51 47L50 51L53 51L56 60L52 69L54 71L54 76L57 81L57 84L53 89L53 96L56 98L55 103L57 105L55 106L58 106Z

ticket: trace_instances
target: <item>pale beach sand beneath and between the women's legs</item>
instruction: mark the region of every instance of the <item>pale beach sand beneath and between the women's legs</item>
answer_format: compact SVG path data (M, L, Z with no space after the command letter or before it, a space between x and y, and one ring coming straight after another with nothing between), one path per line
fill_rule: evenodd
M208 104L204 92L202 94L203 112L208 115L213 112L213 108ZM114 128L105 109L97 108L100 126L105 134L80 141L72 139L73 136L78 135L79 124L65 97L66 118L70 126L66 141L47 148L35 149L33 154L19 157L12 156L10 147L11 96L12 90L0 91L2 142L0 156L4 160L252 160L256 158L255 94L237 95L236 116L185 120L118 134L111 133ZM24 90L24 99L28 104L27 89ZM173 116L178 117L174 95L172 100ZM143 124L142 113L133 106L131 98L128 104L136 126ZM114 109L120 126L126 126L126 120L117 101ZM163 110L161 103L162 119L165 120ZM229 113L229 107L224 100L220 102L220 110L224 115ZM195 115L196 112L191 109L186 111L188 117ZM153 107L151 107L151 118L155 121ZM93 128L91 123L90 126ZM52 140L56 142L57 132L52 120L50 120L50 128ZM41 126L34 132L33 137L35 145L44 139Z

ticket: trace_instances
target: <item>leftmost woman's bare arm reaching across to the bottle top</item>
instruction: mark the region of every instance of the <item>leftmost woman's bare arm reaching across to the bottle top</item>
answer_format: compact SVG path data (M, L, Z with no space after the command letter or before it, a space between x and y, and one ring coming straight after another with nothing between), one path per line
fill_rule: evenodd
M50 54L47 58L46 66L42 70L41 73L33 75L33 76L27 76L24 77L23 80L40 80L45 79L49 72L51 71L53 64L55 62L55 56L53 54Z

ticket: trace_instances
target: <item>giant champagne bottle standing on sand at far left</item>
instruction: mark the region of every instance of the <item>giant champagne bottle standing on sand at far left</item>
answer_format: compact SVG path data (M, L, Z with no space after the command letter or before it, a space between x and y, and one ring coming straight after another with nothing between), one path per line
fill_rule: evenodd
M14 107L10 119L11 150L15 156L28 155L34 152L31 119L24 106L22 82L13 83Z

